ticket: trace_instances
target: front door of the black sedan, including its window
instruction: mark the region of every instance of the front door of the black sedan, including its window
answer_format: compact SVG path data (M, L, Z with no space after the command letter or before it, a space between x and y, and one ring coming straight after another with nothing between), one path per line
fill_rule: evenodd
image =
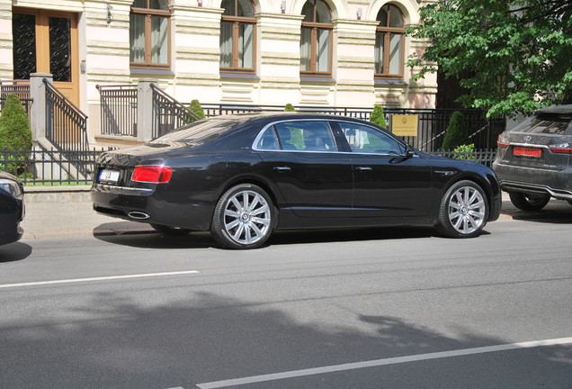
M425 216L431 204L431 168L406 157L406 145L377 128L338 122L351 149L356 216Z

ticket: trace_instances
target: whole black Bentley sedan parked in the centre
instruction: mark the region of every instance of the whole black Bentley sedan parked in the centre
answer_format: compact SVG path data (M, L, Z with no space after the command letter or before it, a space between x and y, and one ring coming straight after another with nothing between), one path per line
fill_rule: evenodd
M370 122L254 113L192 122L103 153L94 210L254 249L275 230L433 225L477 236L500 213L494 172L413 149Z

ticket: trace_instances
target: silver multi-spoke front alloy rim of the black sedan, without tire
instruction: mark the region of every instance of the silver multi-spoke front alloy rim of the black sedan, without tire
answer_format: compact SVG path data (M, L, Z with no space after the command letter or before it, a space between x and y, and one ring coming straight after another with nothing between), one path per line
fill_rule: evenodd
M461 234L477 231L485 222L487 204L472 186L461 186L450 197L447 213L452 227Z

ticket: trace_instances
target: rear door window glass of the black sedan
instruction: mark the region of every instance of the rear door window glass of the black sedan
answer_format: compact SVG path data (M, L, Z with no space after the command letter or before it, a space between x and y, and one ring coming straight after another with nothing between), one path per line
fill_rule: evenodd
M276 124L282 149L336 151L334 135L327 122L282 122Z

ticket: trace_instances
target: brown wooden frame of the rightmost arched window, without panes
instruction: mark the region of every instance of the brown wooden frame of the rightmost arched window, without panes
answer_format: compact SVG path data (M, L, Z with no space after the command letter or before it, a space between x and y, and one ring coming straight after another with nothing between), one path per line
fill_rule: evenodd
M384 8L387 7L387 25L385 26L381 26L380 25L380 20L379 20L379 15L381 10L383 10ZM391 9L397 9L397 11L399 12L400 16L401 16L401 21L403 24L403 27L391 27ZM381 34L383 34L382 38L383 38L383 65L382 68L383 69L387 69L387 73L375 73L375 78L382 78L382 79L403 79L405 77L405 49L406 49L406 36L405 36L405 22L406 22L406 18L405 18L405 14L403 14L403 11L401 11L401 9L399 9L398 5L394 5L394 4L386 4L383 5L380 8L380 11L378 12L378 18L376 19L378 22L378 26L376 27L376 31L375 31L375 38L376 38L376 42L378 39L378 36L380 36ZM389 60L390 60L390 43L391 43L391 34L398 34L401 36L401 58L400 60L400 73L398 74L391 74L389 73ZM377 49L377 47L376 47ZM374 71L377 70L377 65L378 65L378 58L375 58L375 63L374 63Z

